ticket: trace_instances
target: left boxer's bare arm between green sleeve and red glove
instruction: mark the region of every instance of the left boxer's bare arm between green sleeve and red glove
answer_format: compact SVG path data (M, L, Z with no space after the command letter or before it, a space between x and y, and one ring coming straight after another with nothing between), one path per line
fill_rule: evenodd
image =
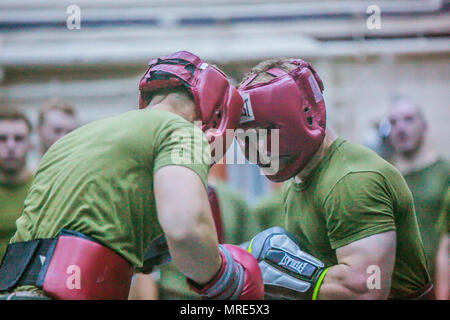
M221 258L201 179L188 168L165 166L155 173L154 191L172 262L188 278L205 284L219 271Z

